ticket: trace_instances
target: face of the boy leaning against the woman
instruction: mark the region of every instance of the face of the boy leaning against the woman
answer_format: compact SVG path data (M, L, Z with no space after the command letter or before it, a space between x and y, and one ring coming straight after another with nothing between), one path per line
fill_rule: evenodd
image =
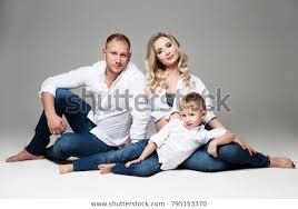
M183 108L182 110L182 121L183 126L190 130L201 125L206 116L206 111L201 108L199 110L195 110L193 108Z

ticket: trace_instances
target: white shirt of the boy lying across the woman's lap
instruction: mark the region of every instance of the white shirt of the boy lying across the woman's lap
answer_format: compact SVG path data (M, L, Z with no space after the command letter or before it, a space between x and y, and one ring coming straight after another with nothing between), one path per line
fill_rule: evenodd
M170 170L182 163L200 146L226 132L227 130L219 128L206 130L203 125L188 130L181 120L175 119L155 133L149 141L157 146L161 170Z

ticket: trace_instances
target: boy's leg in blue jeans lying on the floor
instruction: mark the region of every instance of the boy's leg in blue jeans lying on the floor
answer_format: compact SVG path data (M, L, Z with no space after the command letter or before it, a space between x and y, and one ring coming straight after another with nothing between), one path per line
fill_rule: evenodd
M128 168L126 168L123 163L117 163L112 167L111 171L118 175L150 177L161 170L160 170L160 163L158 162L158 156L155 152L146 160L131 165Z

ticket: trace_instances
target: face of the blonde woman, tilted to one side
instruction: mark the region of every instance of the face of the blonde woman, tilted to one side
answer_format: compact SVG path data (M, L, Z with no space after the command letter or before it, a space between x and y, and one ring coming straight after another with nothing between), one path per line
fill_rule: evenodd
M178 64L179 53L177 47L167 37L160 37L155 41L157 59L166 67Z

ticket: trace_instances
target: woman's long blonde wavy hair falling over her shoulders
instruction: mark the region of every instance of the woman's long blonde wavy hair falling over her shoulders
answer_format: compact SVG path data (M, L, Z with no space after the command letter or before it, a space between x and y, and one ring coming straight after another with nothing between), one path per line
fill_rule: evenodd
M159 32L152 36L147 44L147 54L145 60L145 66L147 70L147 84L146 84L146 93L151 96L157 92L158 89L168 89L167 83L167 72L166 67L157 59L157 54L155 51L155 42L160 37L168 38L172 44L177 47L179 53L178 60L178 70L181 72L182 81L186 88L189 88L192 83L190 82L190 73L187 69L187 56L183 53L180 43L178 40L171 36L163 32Z

